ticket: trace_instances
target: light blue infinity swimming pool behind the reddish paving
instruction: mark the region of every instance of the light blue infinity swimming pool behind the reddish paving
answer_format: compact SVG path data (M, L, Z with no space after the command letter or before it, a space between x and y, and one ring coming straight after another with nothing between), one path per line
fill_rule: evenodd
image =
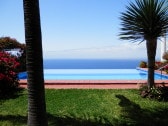
M19 79L26 79L26 72ZM147 72L139 69L45 69L45 80L146 80ZM155 79L168 76L155 73Z

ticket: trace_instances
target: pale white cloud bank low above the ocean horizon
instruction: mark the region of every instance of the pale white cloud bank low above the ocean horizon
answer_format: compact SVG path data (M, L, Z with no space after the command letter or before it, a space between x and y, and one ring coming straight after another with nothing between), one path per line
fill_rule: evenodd
M146 54L145 42L141 44L121 43L118 45L103 46L103 47L44 51L44 58L117 58L117 59L143 58L144 59L147 57L146 55L147 54Z

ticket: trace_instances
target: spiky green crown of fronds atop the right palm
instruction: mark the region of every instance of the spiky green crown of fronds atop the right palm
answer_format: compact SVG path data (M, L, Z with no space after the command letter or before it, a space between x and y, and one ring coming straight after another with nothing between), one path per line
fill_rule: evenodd
M145 40L158 38L168 29L168 2L165 0L135 0L121 13L120 39Z

